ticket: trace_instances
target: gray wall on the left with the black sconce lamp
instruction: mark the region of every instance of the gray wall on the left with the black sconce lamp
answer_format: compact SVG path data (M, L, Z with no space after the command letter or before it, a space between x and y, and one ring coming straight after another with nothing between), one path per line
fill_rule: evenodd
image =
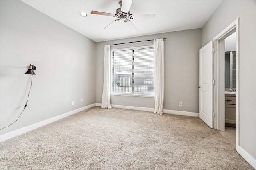
M0 23L1 128L23 110L36 66L28 106L1 135L95 103L94 41L18 0L0 1Z

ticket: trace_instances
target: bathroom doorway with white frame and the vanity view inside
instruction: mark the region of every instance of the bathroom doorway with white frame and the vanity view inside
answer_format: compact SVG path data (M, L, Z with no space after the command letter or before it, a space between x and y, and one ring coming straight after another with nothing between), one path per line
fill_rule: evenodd
M232 49L229 44L230 42L228 42L231 38L233 39ZM225 125L235 126L235 145L236 149L238 149L238 139L240 136L239 18L214 37L213 40L215 49L214 80L216 81L214 86L214 111L216 112L214 129L221 131L225 131L226 129L229 131L230 128L225 128Z

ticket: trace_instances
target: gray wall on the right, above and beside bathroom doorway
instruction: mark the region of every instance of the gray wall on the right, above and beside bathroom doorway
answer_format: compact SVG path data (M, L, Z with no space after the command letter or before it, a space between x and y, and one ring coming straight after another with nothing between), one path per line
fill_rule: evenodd
M240 18L240 146L256 160L256 1L224 0L202 29L206 45Z

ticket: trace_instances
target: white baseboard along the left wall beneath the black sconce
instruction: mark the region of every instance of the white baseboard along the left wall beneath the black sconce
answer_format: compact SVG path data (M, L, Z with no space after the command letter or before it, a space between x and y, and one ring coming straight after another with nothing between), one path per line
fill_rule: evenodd
M52 118L47 119L47 120L44 120L44 121L40 121L40 122L38 122L38 123L29 125L29 126L26 126L26 127L22 127L22 128L20 128L20 129L15 130L15 131L11 131L11 132L9 132L9 133L5 133L5 134L3 134L3 135L0 135L0 142L6 141L7 139L16 137L16 136L21 135L21 134L23 134L23 133L26 133L26 132L28 132L28 131L32 131L32 130L34 130L34 129L37 129L37 128L39 128L39 127L42 127L42 126L47 125L47 124L49 124L49 123L52 123L52 122L54 122L54 121L63 119L63 118L65 118L65 117L68 117L68 116L70 116L70 115L74 115L74 114L76 114L76 113L78 113L78 112L80 112L80 111L83 111L83 110L85 110L85 109L89 109L90 107L94 107L94 106L96 106L95 103L94 103L94 104L90 104L90 105L88 105L88 106L81 107L81 108L79 108L79 109L75 109L75 110L73 110L73 111L69 111L68 113L64 113L64 114L62 114L62 115L58 115L58 116L56 116L56 117L52 117Z

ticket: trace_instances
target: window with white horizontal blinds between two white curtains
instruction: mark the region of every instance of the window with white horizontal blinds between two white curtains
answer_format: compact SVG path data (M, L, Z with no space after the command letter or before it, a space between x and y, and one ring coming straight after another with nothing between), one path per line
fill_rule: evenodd
M114 49L112 93L154 94L153 46Z

